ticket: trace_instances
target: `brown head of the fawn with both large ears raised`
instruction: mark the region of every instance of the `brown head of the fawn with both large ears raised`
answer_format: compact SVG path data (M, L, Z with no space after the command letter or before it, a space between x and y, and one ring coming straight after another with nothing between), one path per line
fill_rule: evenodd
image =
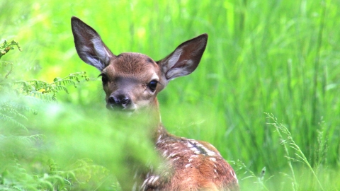
M140 53L113 54L96 30L77 17L72 17L72 32L79 57L101 71L106 108L128 112L141 108L158 110L157 93L171 79L196 69L208 40L207 34L199 35L155 62Z

